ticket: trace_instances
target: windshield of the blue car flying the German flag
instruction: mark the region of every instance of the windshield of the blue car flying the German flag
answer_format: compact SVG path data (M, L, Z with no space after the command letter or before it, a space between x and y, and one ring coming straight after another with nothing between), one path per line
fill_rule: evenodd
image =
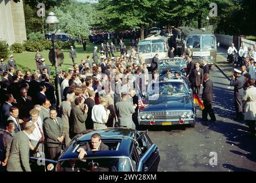
M148 89L148 96L184 96L188 90L182 82L156 82L152 83Z

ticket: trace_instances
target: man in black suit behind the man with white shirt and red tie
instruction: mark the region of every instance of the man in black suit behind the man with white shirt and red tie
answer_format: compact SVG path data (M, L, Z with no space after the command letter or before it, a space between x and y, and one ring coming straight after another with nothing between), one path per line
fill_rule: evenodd
M18 109L20 110L20 118L23 121L29 121L29 111L33 109L33 101L25 88L20 90L20 96L17 98Z

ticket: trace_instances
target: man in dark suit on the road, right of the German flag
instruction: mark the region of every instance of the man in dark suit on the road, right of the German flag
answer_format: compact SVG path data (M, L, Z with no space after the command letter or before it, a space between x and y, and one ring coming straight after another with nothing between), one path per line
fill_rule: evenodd
M210 75L208 73L204 74L204 82L203 82L203 93L202 99L204 102L204 109L202 113L202 121L207 121L207 116L211 117L210 121L216 121L216 117L214 114L214 109L212 108L212 89L214 87L214 83L210 80Z

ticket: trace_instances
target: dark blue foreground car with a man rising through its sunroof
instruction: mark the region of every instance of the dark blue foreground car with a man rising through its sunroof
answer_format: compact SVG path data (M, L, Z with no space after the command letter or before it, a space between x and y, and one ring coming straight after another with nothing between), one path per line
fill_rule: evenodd
M87 156L80 160L77 149L90 142L94 133L102 136L102 143L109 150L88 151ZM38 142L40 143L48 142ZM36 157L34 152L30 157L32 170L46 170L46 166L53 164L57 172L155 172L160 162L158 148L146 132L121 128L86 130L73 138L58 160L46 157ZM38 165L39 160L45 164Z

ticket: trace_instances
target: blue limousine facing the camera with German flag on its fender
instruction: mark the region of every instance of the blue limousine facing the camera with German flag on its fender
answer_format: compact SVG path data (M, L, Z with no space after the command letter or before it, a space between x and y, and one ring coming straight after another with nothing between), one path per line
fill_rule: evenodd
M139 125L189 125L194 127L196 108L193 93L184 79L153 82L141 97Z

